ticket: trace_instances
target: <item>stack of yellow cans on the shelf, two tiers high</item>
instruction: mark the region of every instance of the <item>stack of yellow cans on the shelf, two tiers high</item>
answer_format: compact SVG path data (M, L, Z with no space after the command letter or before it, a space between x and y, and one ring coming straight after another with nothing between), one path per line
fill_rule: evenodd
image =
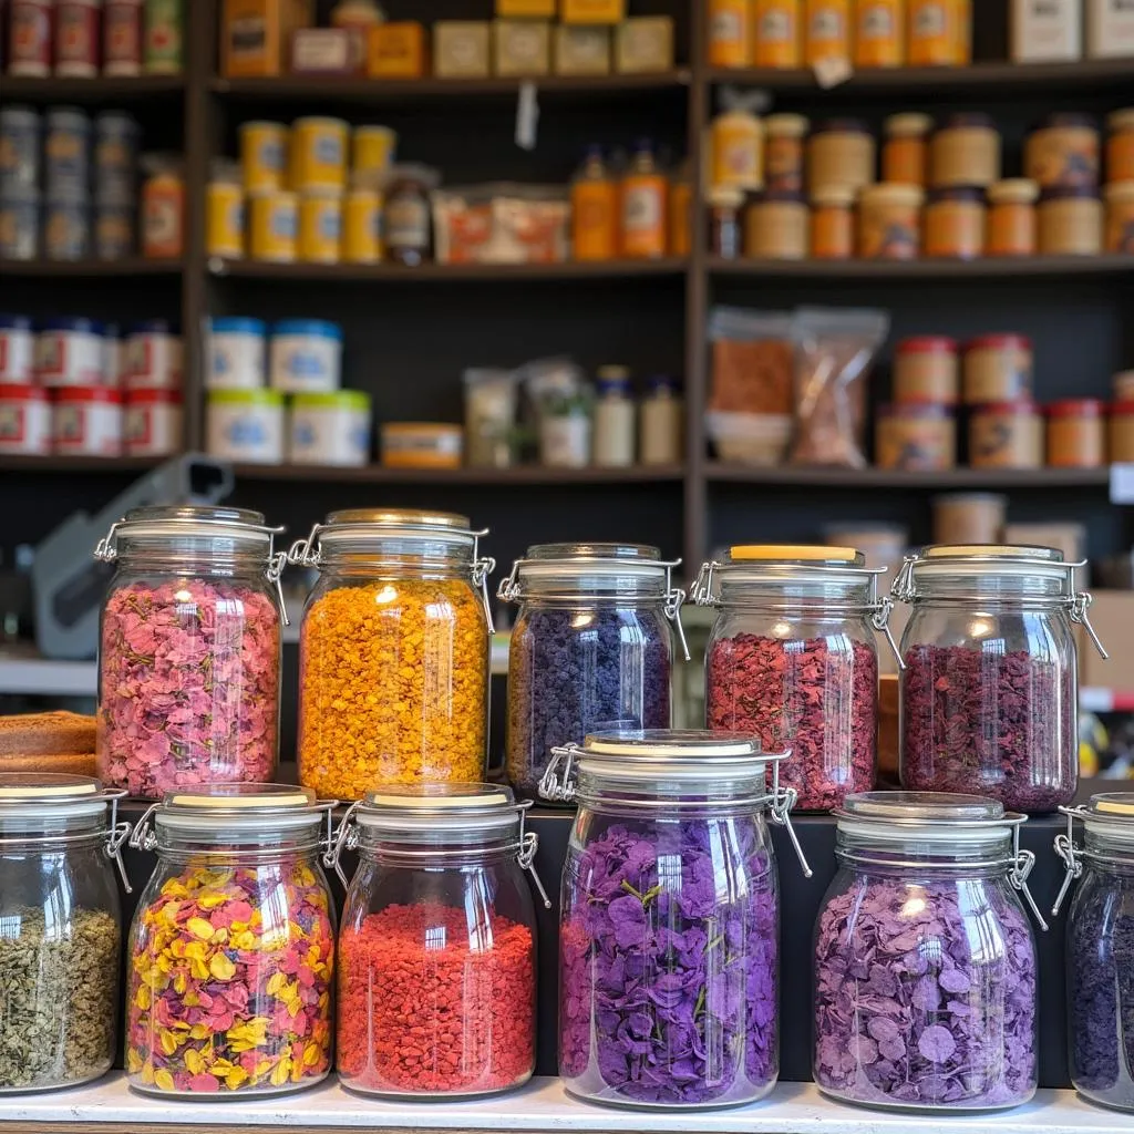
M397 135L340 118L240 127L239 169L213 167L208 252L274 263L376 263ZM348 156L350 161L348 162Z

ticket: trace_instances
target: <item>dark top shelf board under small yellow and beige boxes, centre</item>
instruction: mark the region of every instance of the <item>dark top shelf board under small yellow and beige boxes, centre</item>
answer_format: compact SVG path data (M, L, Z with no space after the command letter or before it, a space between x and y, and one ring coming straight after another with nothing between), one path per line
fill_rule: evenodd
M287 75L281 78L213 78L215 94L229 99L260 101L302 101L375 104L416 99L464 99L469 96L515 98L523 83L533 83L541 96L609 98L618 94L651 93L687 87L687 69L658 75L566 75L519 78L415 78L378 79L327 75Z

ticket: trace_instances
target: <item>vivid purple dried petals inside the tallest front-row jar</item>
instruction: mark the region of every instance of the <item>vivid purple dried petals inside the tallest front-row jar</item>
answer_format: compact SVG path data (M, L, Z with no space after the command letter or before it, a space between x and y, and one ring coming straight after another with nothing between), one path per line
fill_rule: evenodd
M755 821L616 822L564 879L568 1088L670 1106L763 1094L779 1070L779 902Z

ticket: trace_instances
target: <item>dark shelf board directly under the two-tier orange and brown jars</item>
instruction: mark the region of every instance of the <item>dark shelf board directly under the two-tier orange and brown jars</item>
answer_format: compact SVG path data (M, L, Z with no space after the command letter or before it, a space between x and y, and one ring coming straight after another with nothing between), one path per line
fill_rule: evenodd
M1132 64L1134 68L1134 64ZM1134 255L982 256L979 260L722 260L711 256L716 276L801 279L987 279L1134 273Z

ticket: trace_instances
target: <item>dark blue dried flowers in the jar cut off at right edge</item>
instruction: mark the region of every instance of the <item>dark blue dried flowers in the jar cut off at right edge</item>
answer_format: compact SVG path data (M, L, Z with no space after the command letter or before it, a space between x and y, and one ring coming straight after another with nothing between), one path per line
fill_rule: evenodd
M1088 872L1068 914L1070 1080L1134 1108L1134 878Z

